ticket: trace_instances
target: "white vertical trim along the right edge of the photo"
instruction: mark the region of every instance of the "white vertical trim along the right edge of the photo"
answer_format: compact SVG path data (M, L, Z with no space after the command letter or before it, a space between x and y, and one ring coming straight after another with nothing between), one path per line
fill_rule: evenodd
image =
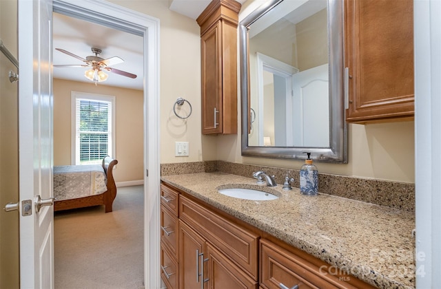
M437 288L441 283L441 1L413 1L413 5L416 288Z

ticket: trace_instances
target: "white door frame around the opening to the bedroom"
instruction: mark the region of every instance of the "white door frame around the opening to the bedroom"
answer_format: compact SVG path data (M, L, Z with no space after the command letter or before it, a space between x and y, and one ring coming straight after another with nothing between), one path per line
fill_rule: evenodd
M106 1L53 0L53 11L143 36L144 284L161 288L159 150L159 19ZM147 138L147 136L149 136Z

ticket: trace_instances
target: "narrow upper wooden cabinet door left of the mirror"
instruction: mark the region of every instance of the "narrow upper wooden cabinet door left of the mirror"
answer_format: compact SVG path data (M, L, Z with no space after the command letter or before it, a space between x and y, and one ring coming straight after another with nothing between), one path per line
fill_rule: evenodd
M202 133L222 133L222 25L218 21L201 36Z

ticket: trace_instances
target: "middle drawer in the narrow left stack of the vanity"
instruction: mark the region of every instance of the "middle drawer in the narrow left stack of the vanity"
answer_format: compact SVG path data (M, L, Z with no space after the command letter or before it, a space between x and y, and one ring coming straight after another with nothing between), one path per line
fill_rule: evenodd
M161 242L168 246L170 253L178 259L178 218L161 205Z

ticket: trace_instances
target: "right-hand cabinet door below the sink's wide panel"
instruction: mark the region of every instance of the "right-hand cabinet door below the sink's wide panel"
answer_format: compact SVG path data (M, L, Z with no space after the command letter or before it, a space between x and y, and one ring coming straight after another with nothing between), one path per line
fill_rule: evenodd
M208 288L256 289L258 284L225 255L207 244Z

